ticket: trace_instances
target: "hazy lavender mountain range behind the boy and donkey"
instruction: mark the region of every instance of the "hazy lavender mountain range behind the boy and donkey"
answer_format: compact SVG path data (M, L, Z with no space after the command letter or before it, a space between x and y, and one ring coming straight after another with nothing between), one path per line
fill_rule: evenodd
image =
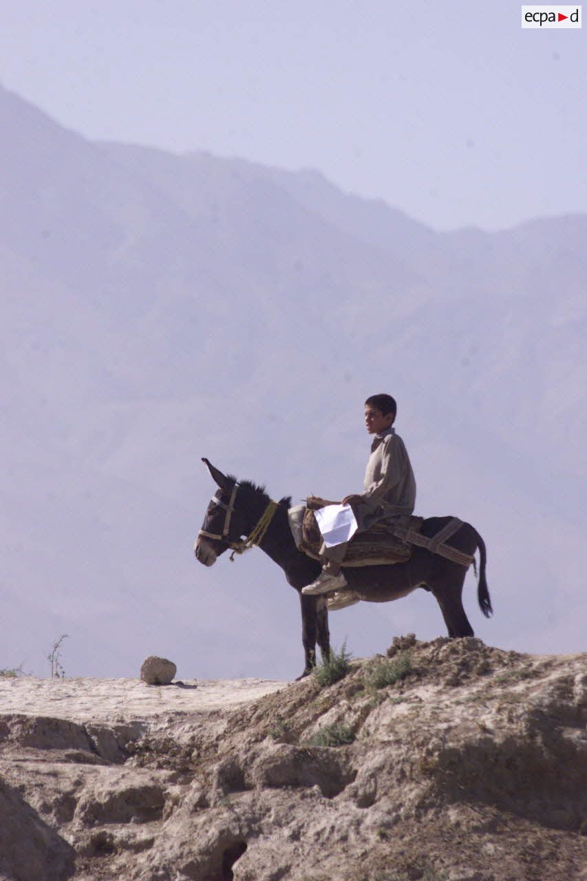
M435 233L310 171L92 144L2 89L0 121L0 667L39 671L70 633L71 675L152 653L186 677L299 672L269 559L192 559L200 457L278 498L352 492L381 390L420 513L486 537L479 635L582 648L587 215ZM358 654L443 633L423 594L331 629Z

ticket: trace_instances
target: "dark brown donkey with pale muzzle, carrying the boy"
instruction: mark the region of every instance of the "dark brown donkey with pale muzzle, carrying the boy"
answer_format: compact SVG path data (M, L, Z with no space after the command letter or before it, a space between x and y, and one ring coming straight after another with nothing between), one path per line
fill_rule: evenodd
M324 596L304 596L301 589L314 581L320 573L320 564L298 550L289 526L287 512L290 498L271 501L263 486L247 480L225 476L207 459L202 460L219 489L212 497L204 516L202 529L194 544L196 559L204 566L212 566L220 554L232 549L242 553L258 544L271 559L281 566L286 581L298 591L301 603L301 641L304 648L302 678L316 665L316 642L321 654L331 651L328 629L328 611ZM421 532L434 537L450 521L450 517L429 517ZM244 540L242 536L247 536ZM477 529L463 523L448 541L452 547L473 555L479 550L479 608L489 618L493 614L485 575L487 551ZM361 600L367 603L387 603L407 596L416 588L423 588L433 596L442 611L442 618L450 637L473 636L472 626L464 613L461 595L466 567L440 557L425 548L414 547L405 563L388 566L346 567L346 581Z

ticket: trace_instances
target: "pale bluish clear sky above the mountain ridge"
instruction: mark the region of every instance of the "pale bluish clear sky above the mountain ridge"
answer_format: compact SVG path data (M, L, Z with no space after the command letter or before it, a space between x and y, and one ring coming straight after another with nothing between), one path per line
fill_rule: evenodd
M587 27L513 0L3 6L0 82L85 137L316 168L435 229L587 211Z

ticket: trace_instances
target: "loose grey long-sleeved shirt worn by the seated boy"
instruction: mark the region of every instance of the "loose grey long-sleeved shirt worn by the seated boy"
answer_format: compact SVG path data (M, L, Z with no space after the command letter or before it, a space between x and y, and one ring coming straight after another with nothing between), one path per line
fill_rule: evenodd
M360 527L380 506L388 517L412 514L416 480L404 441L393 428L375 435L363 485L357 512Z

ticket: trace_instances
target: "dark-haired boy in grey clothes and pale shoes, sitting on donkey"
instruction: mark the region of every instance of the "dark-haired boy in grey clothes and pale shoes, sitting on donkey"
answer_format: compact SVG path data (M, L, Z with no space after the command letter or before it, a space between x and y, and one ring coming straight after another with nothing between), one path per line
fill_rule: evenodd
M390 395L372 395L365 402L365 425L369 434L375 434L365 471L365 488L364 492L345 496L341 502L353 508L360 532L380 520L411 515L413 511L416 481L412 465L404 441L391 427L397 411L396 402ZM336 590L350 595L346 602L337 603L334 608L343 608L356 602L353 592L348 590L345 575L340 571L347 546L348 542L331 547L322 543L322 572L316 581L301 589L302 594L314 596Z

